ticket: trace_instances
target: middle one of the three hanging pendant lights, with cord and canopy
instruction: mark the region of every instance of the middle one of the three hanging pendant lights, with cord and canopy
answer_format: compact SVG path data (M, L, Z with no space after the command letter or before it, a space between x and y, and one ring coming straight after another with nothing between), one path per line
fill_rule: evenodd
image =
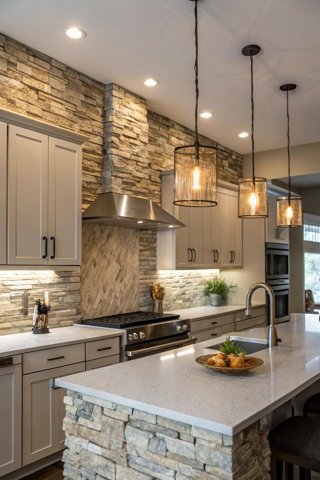
M253 61L252 57L260 52L258 45L242 48L242 55L251 60L251 143L252 143L252 177L240 179L238 197L239 218L265 218L268 216L267 179L254 176L254 138L253 138Z

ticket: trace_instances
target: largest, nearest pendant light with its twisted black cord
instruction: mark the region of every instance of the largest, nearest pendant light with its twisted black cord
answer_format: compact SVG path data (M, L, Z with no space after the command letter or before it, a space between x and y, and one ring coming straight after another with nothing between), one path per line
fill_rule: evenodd
M194 145L175 148L175 198L173 203L188 207L210 207L217 204L217 148L200 145L198 138L198 0L190 1L195 1L195 142Z

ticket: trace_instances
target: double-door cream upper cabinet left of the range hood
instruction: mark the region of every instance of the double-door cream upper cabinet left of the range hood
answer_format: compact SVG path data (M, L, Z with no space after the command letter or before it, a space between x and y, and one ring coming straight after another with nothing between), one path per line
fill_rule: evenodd
M9 125L8 264L81 264L81 145Z

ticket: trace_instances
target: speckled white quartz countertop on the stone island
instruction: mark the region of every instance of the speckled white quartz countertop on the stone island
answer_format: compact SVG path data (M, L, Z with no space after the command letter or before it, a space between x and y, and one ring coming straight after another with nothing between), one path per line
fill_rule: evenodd
M320 378L318 315L293 314L277 325L282 343L256 354L264 361L247 375L229 376L195 359L212 340L56 380L81 393L234 435ZM267 328L235 336L266 339ZM225 336L214 339L224 341Z

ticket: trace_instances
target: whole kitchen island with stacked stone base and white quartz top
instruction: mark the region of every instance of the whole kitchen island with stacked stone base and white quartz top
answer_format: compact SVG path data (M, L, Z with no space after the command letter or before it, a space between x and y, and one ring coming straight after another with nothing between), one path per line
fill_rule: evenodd
M320 379L318 316L293 314L277 331L282 343L245 376L195 363L207 341L57 379L68 388L66 478L269 479L266 415Z

